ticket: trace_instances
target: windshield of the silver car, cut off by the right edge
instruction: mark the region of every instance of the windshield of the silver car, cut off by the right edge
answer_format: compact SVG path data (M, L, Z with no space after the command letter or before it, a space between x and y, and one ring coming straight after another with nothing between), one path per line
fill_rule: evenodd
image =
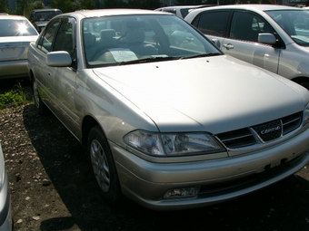
M299 10L267 11L295 43L309 46L309 12Z

